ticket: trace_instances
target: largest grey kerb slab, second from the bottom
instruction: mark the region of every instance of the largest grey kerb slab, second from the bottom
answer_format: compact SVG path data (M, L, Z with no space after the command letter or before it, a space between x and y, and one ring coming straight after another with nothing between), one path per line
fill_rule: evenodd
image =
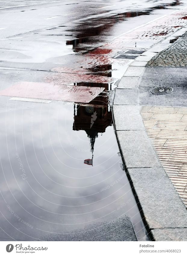
M186 208L162 167L128 173L150 229L187 227Z

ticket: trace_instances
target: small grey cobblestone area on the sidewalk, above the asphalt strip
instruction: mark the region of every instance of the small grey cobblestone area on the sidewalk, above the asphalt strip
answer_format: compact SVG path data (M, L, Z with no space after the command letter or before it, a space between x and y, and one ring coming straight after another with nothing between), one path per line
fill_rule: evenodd
M148 66L172 66L172 67L187 67L187 33L180 37L171 46L158 53L148 62Z

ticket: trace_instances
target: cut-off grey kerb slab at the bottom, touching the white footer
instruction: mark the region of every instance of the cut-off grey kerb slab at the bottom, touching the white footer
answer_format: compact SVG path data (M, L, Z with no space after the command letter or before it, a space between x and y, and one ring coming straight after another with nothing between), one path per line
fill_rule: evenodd
M187 241L187 229L153 229L151 234L155 241Z

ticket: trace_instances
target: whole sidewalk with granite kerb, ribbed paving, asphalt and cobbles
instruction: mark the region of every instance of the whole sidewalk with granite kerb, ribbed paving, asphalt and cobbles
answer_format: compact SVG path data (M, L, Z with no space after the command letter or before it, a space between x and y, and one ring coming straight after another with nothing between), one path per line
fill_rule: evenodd
M118 144L154 241L187 241L186 31L136 58L114 97ZM155 87L171 92L153 94Z

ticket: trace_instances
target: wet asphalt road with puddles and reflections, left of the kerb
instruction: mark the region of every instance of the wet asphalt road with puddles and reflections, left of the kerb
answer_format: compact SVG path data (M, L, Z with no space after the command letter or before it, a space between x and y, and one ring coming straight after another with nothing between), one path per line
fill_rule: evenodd
M150 47L157 40L155 32L149 40L140 40L136 32L119 36L183 5L34 2L0 5L1 90L24 81L38 86L36 102L0 96L0 240L146 240L111 113L113 89L129 61L111 57L135 42ZM163 25L165 33L172 32L169 26ZM55 84L105 91L89 105L50 97L40 103L39 83L49 91ZM27 90L16 96L25 97Z

